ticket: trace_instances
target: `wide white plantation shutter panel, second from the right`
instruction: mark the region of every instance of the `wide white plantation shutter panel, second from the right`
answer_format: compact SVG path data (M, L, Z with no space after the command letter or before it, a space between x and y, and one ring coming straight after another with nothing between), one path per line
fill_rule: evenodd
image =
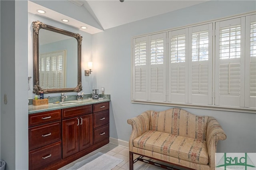
M245 17L216 22L215 105L244 107Z

